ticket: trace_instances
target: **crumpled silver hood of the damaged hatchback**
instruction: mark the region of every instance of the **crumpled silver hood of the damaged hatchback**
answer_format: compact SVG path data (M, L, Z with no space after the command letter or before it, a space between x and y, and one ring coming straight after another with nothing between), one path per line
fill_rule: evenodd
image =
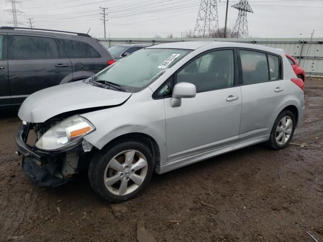
M84 108L118 105L131 96L128 92L104 89L77 81L46 88L31 94L18 116L31 123L43 123L60 113Z

